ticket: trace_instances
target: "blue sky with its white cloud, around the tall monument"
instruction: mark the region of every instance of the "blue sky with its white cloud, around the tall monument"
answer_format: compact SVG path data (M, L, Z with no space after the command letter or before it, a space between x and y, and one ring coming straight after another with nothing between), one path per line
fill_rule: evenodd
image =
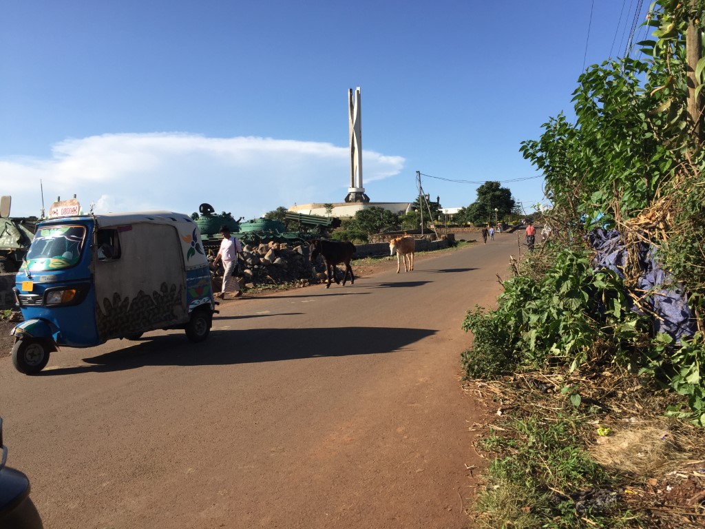
M357 86L372 201L414 200L416 171L536 176L520 142L572 116L583 65L623 55L639 3L6 0L0 194L13 216L39 213L40 180L47 206L97 212L341 202ZM478 187L423 186L443 207ZM503 186L543 201L541 178Z

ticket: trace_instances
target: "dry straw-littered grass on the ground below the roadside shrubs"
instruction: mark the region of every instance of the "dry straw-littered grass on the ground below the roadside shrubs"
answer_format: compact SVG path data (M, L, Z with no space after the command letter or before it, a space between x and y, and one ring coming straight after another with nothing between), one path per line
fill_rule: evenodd
M579 388L582 403L577 409L569 395L561 393L563 387ZM591 461L611 476L619 501L608 517L589 522L580 518L575 525L556 527L705 527L705 430L665 415L669 406L682 404L682 396L646 386L614 366L572 373L526 372L498 381L466 382L465 390L498 416L475 443L486 456L512 458L516 450L511 446L524 446L513 421L533 418L550 428L569 420L576 432L570 443L582 446ZM510 441L496 443L505 449L488 454L486 449L497 435ZM538 445L536 449L540 450ZM546 459L541 454L536 457ZM541 501L537 494L542 493L506 480L497 487L492 476L486 480L478 491L472 526L541 527L530 515ZM492 525L498 521L503 525Z

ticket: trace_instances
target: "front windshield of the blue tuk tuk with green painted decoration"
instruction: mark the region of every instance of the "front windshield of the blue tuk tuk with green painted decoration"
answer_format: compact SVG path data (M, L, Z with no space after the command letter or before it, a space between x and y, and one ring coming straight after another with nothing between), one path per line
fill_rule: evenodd
M40 272L73 267L85 248L85 236L85 226L39 228L27 252L27 269Z

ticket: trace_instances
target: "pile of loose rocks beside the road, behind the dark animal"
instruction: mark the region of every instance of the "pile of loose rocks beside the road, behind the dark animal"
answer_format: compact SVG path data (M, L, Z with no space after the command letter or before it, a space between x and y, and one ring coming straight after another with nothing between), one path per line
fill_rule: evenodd
M317 260L309 262L309 249L305 244L266 243L244 245L240 259L243 286L256 288L262 285L317 284L325 278L325 267Z

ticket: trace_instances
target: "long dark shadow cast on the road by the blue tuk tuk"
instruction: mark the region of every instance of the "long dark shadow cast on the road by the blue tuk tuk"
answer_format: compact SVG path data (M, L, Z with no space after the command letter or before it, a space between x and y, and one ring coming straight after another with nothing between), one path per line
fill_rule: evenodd
M326 356L374 355L403 351L436 334L432 329L336 327L327 329L247 329L212 331L202 343L183 333L142 339L119 351L84 358L87 365L59 367L39 377L137 369L147 365L235 365Z

